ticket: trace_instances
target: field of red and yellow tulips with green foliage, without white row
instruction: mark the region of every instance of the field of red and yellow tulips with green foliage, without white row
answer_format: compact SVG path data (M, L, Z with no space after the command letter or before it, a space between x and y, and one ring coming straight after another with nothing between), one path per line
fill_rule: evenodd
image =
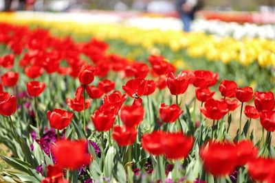
M19 15L0 13L0 182L275 182L273 39Z

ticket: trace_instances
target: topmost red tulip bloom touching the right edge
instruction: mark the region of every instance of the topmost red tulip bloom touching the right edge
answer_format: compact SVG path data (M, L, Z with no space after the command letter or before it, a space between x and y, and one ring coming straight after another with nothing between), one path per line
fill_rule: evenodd
M275 104L274 94L272 92L256 92L254 103L259 112L263 110L273 110Z

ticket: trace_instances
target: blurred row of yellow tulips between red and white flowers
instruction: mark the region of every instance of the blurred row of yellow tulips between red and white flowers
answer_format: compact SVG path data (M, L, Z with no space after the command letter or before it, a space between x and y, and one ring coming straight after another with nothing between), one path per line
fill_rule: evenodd
M35 16L20 16L14 14L0 14L1 22L23 25L40 25L47 27L56 34L65 32L80 36L96 36L123 40L127 44L142 45L149 51L155 50L155 45L167 45L173 51L186 49L193 58L206 57L207 60L221 60L228 63L232 60L243 65L258 62L260 66L275 66L275 40L261 38L218 38L203 33L184 33L181 31L161 31L159 29L140 29L121 24L78 23L62 20L37 19Z

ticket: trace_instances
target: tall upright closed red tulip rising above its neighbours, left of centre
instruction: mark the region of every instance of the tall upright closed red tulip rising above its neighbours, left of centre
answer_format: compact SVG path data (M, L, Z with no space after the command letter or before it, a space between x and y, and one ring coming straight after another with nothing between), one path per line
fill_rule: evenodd
M82 66L78 73L80 84L87 85L94 81L94 67Z

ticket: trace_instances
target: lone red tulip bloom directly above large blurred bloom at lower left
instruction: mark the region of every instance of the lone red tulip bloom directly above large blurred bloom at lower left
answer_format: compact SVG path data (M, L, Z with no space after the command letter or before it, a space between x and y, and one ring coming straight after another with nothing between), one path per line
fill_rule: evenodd
M72 121L74 114L62 109L54 109L52 112L47 111L47 119L50 121L51 127L57 130L63 130Z

